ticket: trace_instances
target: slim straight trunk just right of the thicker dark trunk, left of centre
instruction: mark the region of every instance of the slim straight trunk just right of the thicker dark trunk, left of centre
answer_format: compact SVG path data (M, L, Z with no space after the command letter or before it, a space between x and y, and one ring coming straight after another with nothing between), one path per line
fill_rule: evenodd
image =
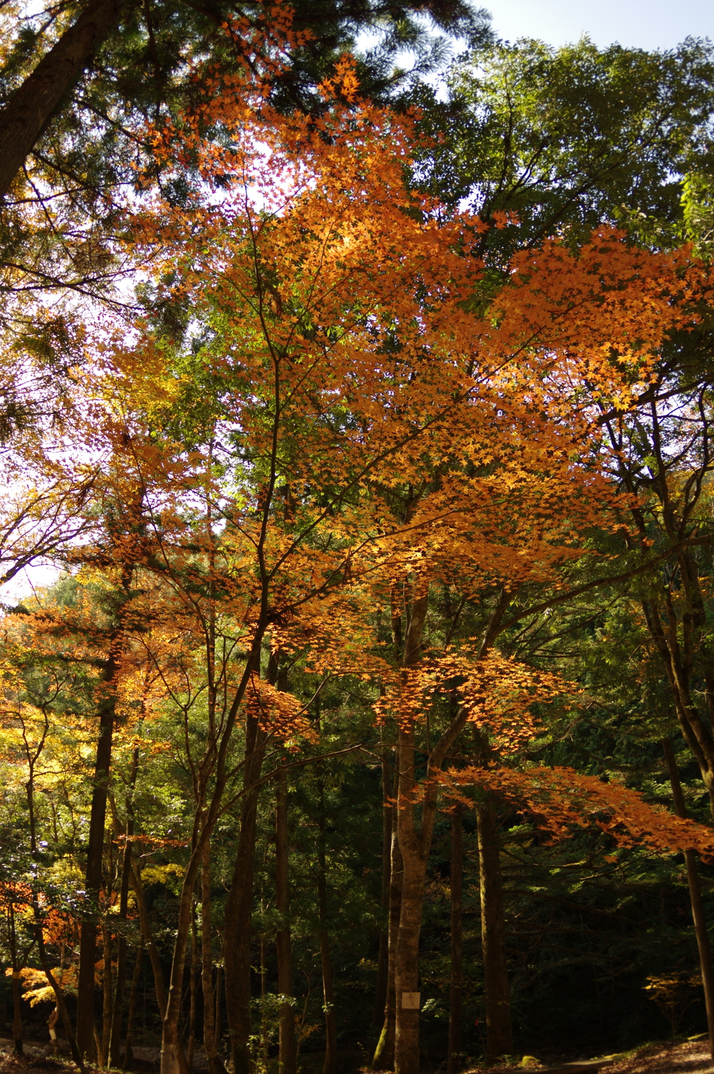
M275 781L275 903L280 915L276 938L278 995L292 999L292 950L290 942L290 885L288 869L288 770L280 766ZM295 1016L292 1003L280 1004L280 1074L295 1074Z

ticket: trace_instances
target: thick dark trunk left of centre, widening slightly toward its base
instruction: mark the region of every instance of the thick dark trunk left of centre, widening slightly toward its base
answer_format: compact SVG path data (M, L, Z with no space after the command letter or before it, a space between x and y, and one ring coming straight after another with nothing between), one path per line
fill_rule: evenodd
M244 786L260 779L265 753L265 734L258 721L248 715L246 724L246 764ZM225 1011L231 1039L233 1074L249 1074L250 1020L250 926L256 869L256 827L258 788L247 789L241 811L241 831L235 855L231 890L225 904L224 986Z

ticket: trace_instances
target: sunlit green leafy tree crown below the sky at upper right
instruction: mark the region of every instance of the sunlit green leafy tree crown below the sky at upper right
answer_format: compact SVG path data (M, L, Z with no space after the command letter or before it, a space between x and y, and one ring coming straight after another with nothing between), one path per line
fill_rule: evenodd
M602 223L672 248L685 237L682 182L712 165L713 78L711 45L696 40L667 53L586 38L487 45L451 68L447 102L420 90L434 140L417 175L486 221L518 218L482 237L494 266L554 234L581 243Z

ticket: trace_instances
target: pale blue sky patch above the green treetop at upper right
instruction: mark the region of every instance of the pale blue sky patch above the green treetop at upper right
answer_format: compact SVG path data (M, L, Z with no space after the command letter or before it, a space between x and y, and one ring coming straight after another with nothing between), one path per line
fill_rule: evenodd
M714 42L714 0L476 0L493 15L499 38L538 38L551 45L587 33L603 47L673 48L686 37Z

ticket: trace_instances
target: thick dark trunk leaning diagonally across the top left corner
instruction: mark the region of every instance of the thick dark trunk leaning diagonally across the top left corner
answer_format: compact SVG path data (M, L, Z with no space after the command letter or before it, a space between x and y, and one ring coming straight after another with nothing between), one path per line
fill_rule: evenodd
M32 151L52 115L117 26L119 0L92 0L0 113L0 198Z

